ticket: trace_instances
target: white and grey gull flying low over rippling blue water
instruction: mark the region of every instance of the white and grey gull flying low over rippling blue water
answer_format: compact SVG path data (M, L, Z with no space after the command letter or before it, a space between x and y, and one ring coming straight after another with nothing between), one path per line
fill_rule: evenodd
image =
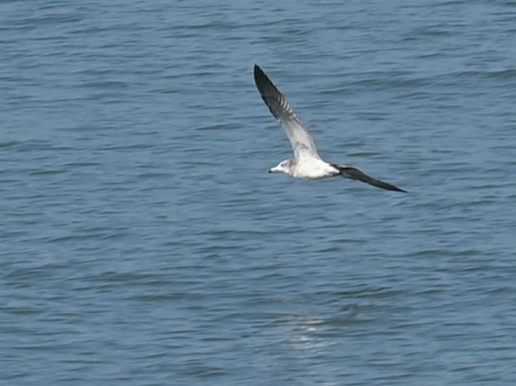
M269 173L283 172L308 180L318 180L328 177L342 176L351 180L358 180L382 189L406 192L397 186L377 180L350 165L332 164L321 159L315 148L315 142L307 128L296 116L285 96L270 81L260 67L254 65L254 82L262 99L280 125L292 144L294 158L285 159L278 166L269 170Z

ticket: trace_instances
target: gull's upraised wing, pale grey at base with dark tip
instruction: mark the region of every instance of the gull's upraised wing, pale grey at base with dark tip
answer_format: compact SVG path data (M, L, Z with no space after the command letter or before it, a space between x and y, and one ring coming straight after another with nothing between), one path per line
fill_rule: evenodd
M294 156L296 158L314 157L320 159L314 140L307 128L296 116L285 96L272 84L262 69L256 65L254 65L254 82L270 112L278 119L291 141Z

